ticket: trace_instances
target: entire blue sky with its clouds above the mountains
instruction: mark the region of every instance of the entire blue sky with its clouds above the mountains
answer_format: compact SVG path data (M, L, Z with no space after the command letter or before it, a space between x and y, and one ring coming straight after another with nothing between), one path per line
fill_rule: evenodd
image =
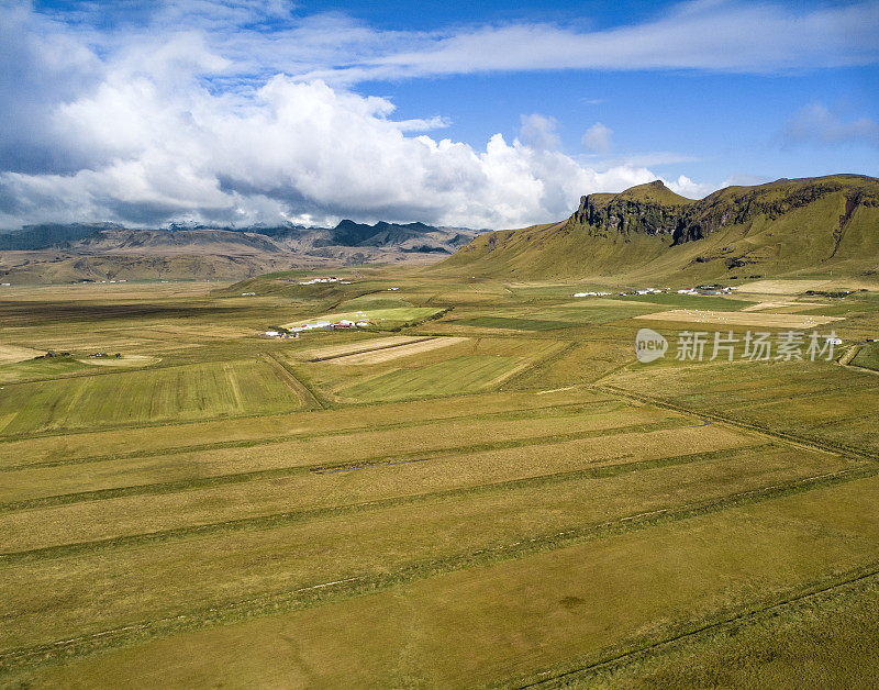
M879 176L875 0L0 0L0 227L501 227Z

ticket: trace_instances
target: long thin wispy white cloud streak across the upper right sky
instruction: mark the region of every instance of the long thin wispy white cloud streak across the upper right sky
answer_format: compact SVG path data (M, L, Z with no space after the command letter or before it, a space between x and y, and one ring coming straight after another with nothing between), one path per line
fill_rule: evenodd
M399 43L385 42L383 52L307 76L357 82L539 69L775 73L867 65L879 58L879 4L861 0L803 12L785 3L702 0L672 7L658 20L605 31L509 24Z

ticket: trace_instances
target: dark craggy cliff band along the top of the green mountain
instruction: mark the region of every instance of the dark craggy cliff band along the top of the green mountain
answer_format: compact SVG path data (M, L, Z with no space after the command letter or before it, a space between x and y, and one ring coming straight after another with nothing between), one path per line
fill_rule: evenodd
M879 207L879 196L841 180L779 180L760 187L727 187L699 201L677 197L659 180L620 194L589 194L568 220L590 235L632 233L671 238L671 244L702 240L726 225L764 215L775 220L835 192L846 193L846 215L858 204ZM633 193L634 192L634 193ZM843 219L841 219L843 221Z

